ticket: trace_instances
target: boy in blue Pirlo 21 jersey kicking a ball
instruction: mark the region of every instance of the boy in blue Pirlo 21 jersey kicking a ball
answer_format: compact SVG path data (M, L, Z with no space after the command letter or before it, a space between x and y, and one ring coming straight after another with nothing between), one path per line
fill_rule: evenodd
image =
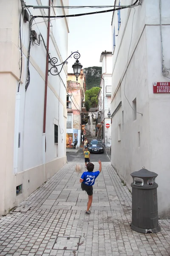
M88 206L87 210L85 212L85 215L89 215L91 213L90 207L93 201L93 185L96 180L96 177L99 175L99 173L102 171L102 163L99 160L99 171L93 172L94 170L94 164L88 163L87 165L87 172L83 172L80 183L82 190L85 190L88 194Z

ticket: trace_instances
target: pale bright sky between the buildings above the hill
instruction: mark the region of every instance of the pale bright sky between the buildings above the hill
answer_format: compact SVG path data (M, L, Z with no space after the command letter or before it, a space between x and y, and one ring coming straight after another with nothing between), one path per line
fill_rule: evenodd
M69 0L69 6L113 6L113 0ZM113 8L109 8L113 9ZM69 9L69 14L96 12L105 9L82 8ZM68 55L79 51L79 62L82 68L102 66L100 55L102 52L112 51L111 20L113 12L69 17L68 27ZM73 73L74 61L68 61L68 73Z

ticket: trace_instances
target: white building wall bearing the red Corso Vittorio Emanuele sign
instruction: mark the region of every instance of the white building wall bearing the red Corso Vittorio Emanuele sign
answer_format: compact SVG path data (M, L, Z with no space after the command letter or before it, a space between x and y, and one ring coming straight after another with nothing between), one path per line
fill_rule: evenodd
M111 163L129 189L130 173L156 172L159 215L170 217L170 1L138 3L113 13Z

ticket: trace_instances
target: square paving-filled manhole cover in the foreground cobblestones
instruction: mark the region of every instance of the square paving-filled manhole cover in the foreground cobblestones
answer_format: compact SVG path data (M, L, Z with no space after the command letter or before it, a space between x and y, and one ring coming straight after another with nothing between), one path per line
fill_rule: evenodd
M78 237L57 237L53 248L54 250L78 250L80 238Z

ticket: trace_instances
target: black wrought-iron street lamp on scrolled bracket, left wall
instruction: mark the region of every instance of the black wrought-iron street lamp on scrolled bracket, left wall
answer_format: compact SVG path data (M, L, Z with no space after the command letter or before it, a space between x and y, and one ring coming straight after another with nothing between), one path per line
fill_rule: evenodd
M76 62L74 63L74 65L72 66L73 71L74 71L74 75L76 76L76 80L78 80L79 74L81 72L82 69L82 65L81 63L79 63L78 59L80 58L80 54L79 52L71 52L71 55L62 63L57 64L58 59L56 57L51 58L48 62L52 65L52 67L48 70L48 72L51 73L52 76L57 76L59 75L59 73L61 73L62 68L65 64L68 64L68 59L71 58L71 56L74 54L74 58L76 59ZM61 69L58 70L58 67L61 66Z

